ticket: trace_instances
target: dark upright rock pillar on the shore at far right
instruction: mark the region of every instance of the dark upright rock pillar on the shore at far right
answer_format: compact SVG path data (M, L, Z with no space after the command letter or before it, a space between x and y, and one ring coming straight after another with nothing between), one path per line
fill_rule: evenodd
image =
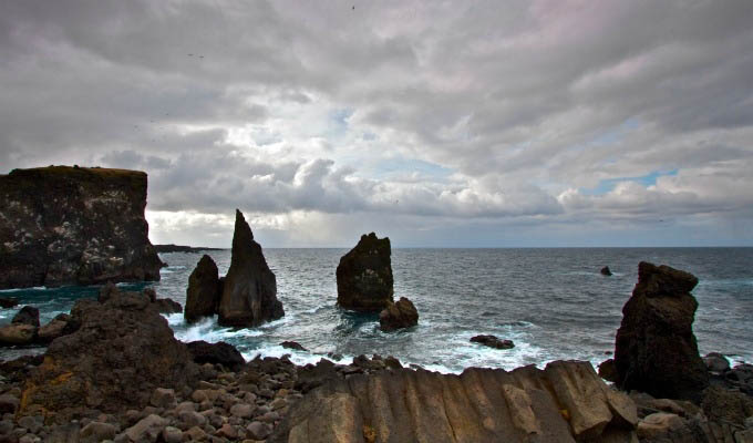
M622 308L615 365L618 385L657 398L698 400L709 385L698 354L693 318L698 279L688 272L641 261L638 284Z

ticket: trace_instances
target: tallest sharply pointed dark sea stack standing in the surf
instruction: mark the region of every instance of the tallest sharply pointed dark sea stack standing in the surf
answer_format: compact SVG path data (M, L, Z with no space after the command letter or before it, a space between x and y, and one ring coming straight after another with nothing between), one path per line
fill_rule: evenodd
M236 209L230 269L225 276L219 300L218 323L252 327L285 316L277 299L275 274L267 266L261 246L254 241L251 228Z

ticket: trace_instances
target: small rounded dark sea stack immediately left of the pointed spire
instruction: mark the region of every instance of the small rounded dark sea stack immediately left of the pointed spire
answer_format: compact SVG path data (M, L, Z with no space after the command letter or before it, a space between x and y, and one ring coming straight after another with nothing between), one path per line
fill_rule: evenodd
M188 277L186 310L183 318L193 323L204 317L214 316L217 313L221 295L217 265L212 257L204 255Z

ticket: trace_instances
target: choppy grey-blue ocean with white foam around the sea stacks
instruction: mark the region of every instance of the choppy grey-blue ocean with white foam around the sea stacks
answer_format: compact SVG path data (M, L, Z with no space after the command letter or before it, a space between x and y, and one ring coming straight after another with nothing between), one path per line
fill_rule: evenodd
M289 353L293 362L305 364L337 353L345 363L362 353L380 354L441 372L543 367L551 360L588 360L596 365L613 351L622 306L638 279L638 262L644 260L699 278L693 329L702 354L716 351L733 363L753 361L753 248L393 249L395 299L410 298L420 315L417 327L398 332L382 332L378 315L336 306L334 271L347 251L265 249L286 315L259 328L221 328L216 319L188 326L179 313L166 318L178 339L227 341L247 359ZM227 272L229 250L206 254L220 275ZM161 257L169 264L162 269L161 281L120 286L153 286L158 297L184 305L188 276L202 254ZM602 266L613 275L601 276ZM38 307L47 322L68 312L76 299L96 297L97 291L96 287L32 288L3 290L0 297ZM0 310L0 323L10 322L17 311ZM510 339L515 348L497 350L470 342L482 333ZM279 346L285 340L309 351L285 349ZM6 348L0 349L0 359L42 351Z

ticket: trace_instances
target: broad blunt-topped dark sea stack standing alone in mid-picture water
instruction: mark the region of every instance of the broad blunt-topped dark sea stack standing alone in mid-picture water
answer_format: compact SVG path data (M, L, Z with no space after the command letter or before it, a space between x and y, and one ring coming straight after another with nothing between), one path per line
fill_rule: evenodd
M393 301L390 238L374 233L361 240L338 265L338 305L345 309L380 312Z

